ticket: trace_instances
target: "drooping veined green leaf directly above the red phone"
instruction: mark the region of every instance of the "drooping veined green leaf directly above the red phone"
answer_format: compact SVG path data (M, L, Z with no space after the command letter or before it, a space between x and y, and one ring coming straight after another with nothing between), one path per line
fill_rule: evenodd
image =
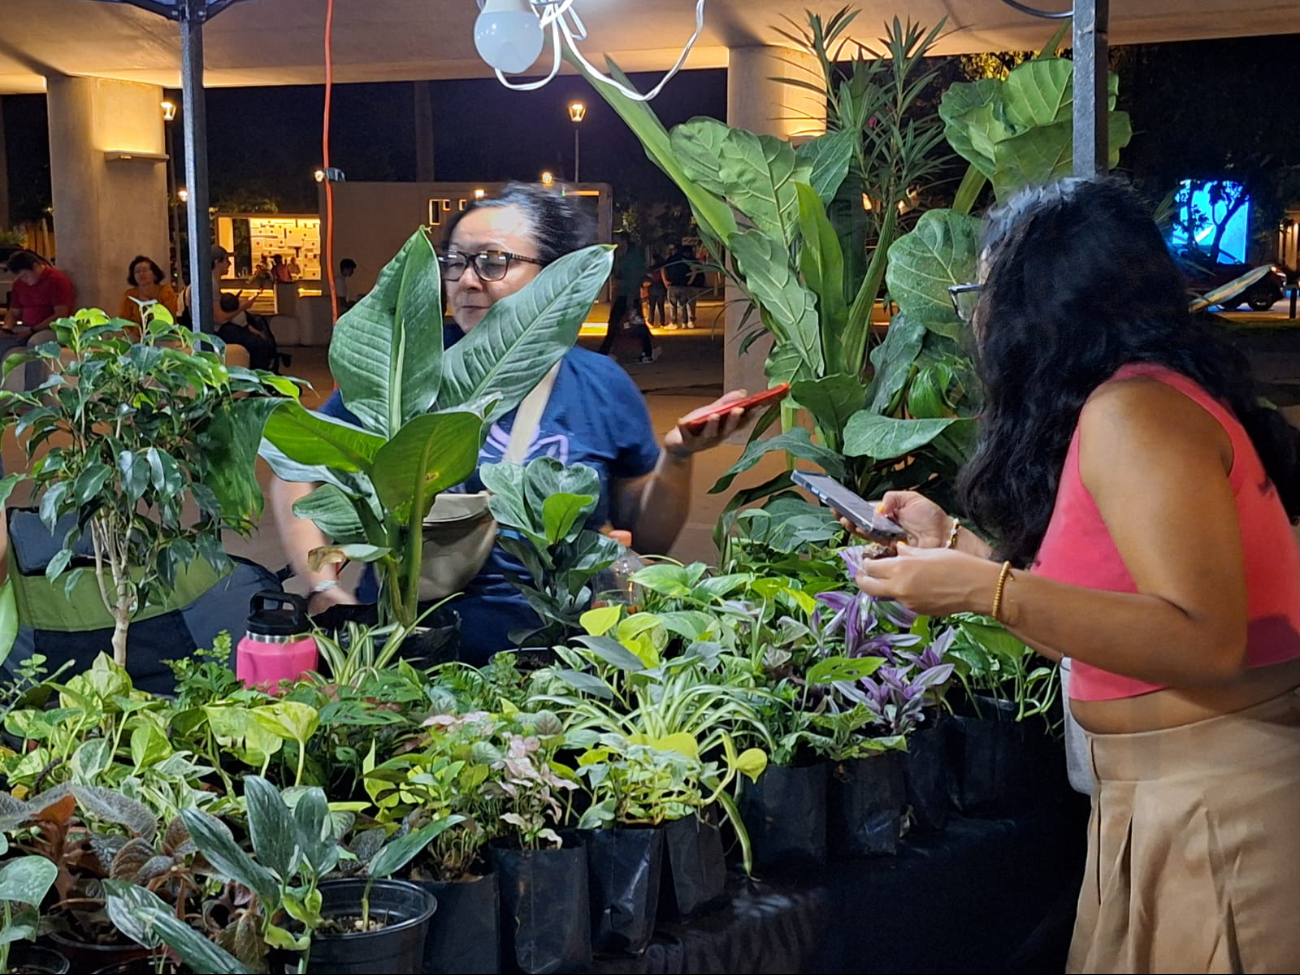
M740 264L745 285L758 302L763 322L779 343L798 352L809 377L820 376L824 360L816 302L796 277L785 246L757 230L736 234L728 246Z

